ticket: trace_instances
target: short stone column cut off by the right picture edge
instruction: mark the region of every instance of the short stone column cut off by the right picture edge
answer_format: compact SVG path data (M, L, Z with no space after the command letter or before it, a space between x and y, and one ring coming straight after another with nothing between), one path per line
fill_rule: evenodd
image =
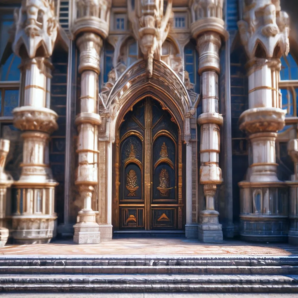
M298 244L298 139L288 142L288 154L294 162L294 175L286 181L290 187L289 200L289 243Z

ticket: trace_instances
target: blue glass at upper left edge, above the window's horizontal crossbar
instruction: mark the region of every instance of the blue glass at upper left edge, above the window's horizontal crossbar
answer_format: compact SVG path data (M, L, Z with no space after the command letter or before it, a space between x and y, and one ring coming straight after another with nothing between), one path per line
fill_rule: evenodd
M9 29L13 24L13 15L0 15L0 58L7 55L5 48L9 39ZM9 55L9 54L8 54ZM3 63L4 61L4 63ZM11 54L3 60L0 66L1 81L18 81L20 80L20 70L18 69L21 59L11 52Z

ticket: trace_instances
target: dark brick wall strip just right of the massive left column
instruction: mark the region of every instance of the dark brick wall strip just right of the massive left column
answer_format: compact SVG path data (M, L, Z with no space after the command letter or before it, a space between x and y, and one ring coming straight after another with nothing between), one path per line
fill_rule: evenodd
M64 211L64 167L65 167L65 134L66 134L66 91L68 54L57 50L52 56L54 70L51 83L51 109L58 114L59 128L50 140L50 167L53 178L59 183L55 193L55 212L58 224L63 222Z

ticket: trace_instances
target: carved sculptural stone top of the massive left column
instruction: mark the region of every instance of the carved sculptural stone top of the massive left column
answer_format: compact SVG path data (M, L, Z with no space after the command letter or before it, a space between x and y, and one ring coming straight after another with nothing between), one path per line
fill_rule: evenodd
M22 58L50 57L57 38L54 0L22 1L14 12L13 52ZM20 51L24 45L26 52Z

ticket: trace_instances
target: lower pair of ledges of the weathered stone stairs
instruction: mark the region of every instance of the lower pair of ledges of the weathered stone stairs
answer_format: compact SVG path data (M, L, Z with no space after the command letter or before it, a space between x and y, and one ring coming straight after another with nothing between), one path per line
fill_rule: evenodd
M1 275L0 291L298 293L298 275Z

